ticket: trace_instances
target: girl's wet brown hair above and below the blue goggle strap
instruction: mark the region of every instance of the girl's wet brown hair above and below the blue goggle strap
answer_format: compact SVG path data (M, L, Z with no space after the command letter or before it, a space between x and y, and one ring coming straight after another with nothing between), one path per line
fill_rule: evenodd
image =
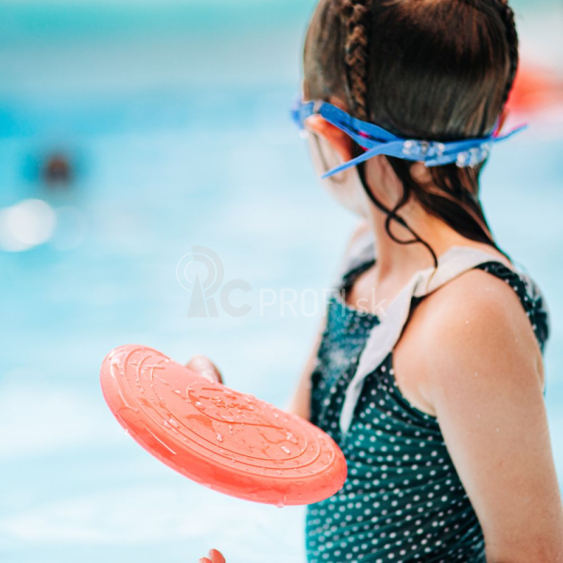
M401 137L485 137L500 118L517 65L514 15L505 0L320 0L305 37L303 94ZM324 127L326 135L316 127L323 142L334 140L338 133ZM348 144L351 156L362 152ZM333 148L342 153L345 146L337 139ZM412 161L373 160L390 167L403 188L389 221L412 196L463 236L495 246L479 203L481 165L421 174L422 165ZM367 163L358 165L366 188Z

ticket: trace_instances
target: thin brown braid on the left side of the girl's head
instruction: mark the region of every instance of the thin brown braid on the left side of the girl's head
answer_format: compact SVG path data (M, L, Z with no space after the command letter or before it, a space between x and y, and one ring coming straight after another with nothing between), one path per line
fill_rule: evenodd
M350 100L358 119L367 120L368 17L372 0L342 0L341 18L348 31L344 62Z

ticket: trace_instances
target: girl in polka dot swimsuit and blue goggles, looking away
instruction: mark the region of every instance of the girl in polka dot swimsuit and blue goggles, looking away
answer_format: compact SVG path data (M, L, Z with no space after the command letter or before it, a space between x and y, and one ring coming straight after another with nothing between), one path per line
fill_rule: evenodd
M517 64L504 0L320 0L312 15L293 115L363 220L291 404L348 462L341 491L308 506L309 563L563 561L548 315L479 201Z

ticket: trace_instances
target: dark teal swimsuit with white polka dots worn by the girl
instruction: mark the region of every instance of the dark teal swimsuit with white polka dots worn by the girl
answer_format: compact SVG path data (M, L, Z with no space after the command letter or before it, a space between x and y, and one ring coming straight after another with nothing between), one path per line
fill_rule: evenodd
M373 263L348 272L341 288ZM548 315L537 286L501 262L477 267L514 288L543 352ZM341 491L307 508L308 563L485 563L483 533L437 419L399 391L392 353L365 379L346 441L341 437L344 392L376 324L377 316L348 307L338 292L329 301L312 373L311 422L339 443L348 478Z

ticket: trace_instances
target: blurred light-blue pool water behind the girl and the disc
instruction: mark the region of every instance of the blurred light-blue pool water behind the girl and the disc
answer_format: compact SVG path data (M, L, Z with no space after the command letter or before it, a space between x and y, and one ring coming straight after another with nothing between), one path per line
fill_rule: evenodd
M318 319L273 307L190 318L176 267L192 245L213 248L226 280L251 284L253 304L259 288L321 291L333 279L354 220L317 185L287 109L307 11L290 6L273 28L251 19L252 32L223 19L206 35L203 16L164 34L166 20L150 25L156 11L134 16L144 22L135 31L104 10L107 25L96 20L84 37L81 12L47 28L40 13L13 8L20 33L12 27L0 46L0 207L41 198L59 220L48 243L0 253L0 559L195 562L217 547L229 563L302 562L302 508L228 498L175 474L120 429L98 376L111 348L143 343L179 361L209 355L234 388L289 400ZM70 189L37 181L53 147L75 163ZM550 305L560 479L562 151L538 124L495 148L483 179L498 241Z

